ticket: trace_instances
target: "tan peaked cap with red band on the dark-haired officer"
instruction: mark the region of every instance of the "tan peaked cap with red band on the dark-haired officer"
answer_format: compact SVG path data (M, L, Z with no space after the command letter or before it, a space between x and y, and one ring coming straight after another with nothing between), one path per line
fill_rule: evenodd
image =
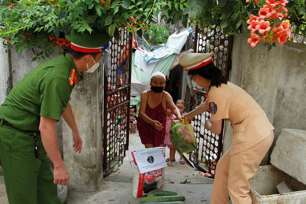
M179 63L185 71L197 69L213 61L214 53L187 53L180 57Z

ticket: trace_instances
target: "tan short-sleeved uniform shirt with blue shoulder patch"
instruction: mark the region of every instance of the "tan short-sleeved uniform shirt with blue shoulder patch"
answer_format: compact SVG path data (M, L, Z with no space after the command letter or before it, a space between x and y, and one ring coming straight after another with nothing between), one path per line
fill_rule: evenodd
M207 101L213 121L225 119L232 122L231 155L258 144L274 130L256 101L231 82L218 88L211 87Z

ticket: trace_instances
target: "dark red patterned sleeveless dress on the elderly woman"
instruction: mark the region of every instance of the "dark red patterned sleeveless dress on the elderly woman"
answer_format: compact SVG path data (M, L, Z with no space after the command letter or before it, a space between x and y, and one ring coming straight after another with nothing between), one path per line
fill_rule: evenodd
M153 146L156 147L164 143L165 126L167 120L166 111L162 103L164 93L162 96L161 103L155 108L151 108L149 106L148 104L149 94L148 94L148 100L145 107L145 114L152 120L158 120L164 126L164 128L161 131L156 130L156 128L153 125L147 123L141 117L137 118L137 130L139 132L139 137L141 139L142 144L153 144Z

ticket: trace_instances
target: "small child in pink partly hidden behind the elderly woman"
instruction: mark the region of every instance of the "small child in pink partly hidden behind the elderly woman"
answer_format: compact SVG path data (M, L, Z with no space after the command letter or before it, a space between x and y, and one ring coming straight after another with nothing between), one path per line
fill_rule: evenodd
M176 119L175 115L172 114L172 111L168 109L166 106L166 115L167 115L167 121L166 121L166 136L164 140L164 144L167 145L167 147L170 149L170 157L166 159L166 162L168 162L168 166L174 166L172 162L175 162L175 150L176 148L173 146L173 144L170 141L170 127L171 127L171 121Z

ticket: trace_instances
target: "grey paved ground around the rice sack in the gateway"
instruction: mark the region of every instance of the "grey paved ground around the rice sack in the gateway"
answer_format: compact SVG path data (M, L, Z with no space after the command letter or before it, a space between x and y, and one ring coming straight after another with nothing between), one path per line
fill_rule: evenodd
M141 203L141 198L137 199L132 196L133 167L130 164L129 158L131 157L131 151L143 148L144 145L141 144L138 134L131 134L130 150L126 151L123 164L115 167L114 172L103 180L96 192L69 191L66 204ZM169 149L167 148L166 158L168 157ZM203 172L193 168L188 162L184 165L180 164L179 152L176 152L175 158L174 166L166 167L164 189L176 191L179 195L184 195L186 197L185 203L210 203L213 180L203 176ZM180 183L186 179L190 183ZM5 186L0 184L0 204L7 203Z

